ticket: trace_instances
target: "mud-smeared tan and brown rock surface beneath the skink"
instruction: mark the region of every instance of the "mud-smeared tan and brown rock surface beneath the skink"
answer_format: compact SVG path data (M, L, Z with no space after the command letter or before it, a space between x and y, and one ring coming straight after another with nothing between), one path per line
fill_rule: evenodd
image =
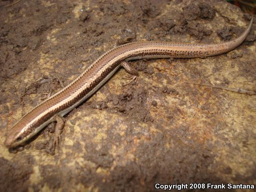
M60 82L72 82L114 40L218 43L239 36L248 15L218 0L21 0L6 7L14 2L0 1L0 191L256 184L256 95L213 88L256 90L255 22L230 53L133 61L139 79L128 86L118 70L65 117L55 153L48 151L54 123L23 151L3 145L22 115L60 90Z

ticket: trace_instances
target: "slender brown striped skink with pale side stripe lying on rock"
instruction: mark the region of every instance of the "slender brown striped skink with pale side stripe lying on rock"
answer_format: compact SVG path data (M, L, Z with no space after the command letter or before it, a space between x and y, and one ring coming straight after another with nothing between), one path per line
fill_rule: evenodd
M171 42L133 42L116 46L100 56L67 87L45 100L24 115L10 130L5 146L19 146L53 121L61 117L94 94L116 71L123 66L137 78L137 72L128 61L149 58L196 58L226 53L240 45L252 27L253 17L245 32L232 41L219 44L187 44ZM57 141L55 141L57 142Z

